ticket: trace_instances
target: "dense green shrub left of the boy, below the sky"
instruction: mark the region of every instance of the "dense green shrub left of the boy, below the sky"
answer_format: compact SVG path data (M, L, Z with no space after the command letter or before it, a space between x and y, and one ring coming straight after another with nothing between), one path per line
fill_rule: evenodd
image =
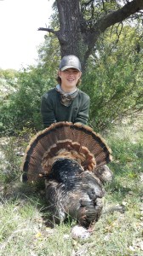
M18 89L1 104L1 131L14 133L23 127L42 130L41 96L52 86L52 79L44 79L40 68L31 67L19 73L17 84Z

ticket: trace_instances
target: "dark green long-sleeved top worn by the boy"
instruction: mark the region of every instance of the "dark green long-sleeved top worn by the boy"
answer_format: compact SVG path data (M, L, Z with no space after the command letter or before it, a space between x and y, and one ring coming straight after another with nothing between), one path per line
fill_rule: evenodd
M71 105L66 107L60 102L60 93L55 88L49 90L43 95L41 103L44 128L60 121L86 125L89 118L89 102L89 96L78 90Z

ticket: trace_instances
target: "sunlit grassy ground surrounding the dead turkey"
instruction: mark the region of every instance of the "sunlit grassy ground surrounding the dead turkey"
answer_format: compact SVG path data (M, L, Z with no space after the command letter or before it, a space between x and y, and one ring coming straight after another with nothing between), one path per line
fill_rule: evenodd
M3 147L5 159L1 160L6 162L0 170L0 255L143 255L141 121L117 124L102 136L112 148L109 166L114 177L105 185L103 214L86 240L72 238L74 223L51 228L43 189L19 181L21 157L10 154L14 138ZM116 207L123 207L123 212Z

